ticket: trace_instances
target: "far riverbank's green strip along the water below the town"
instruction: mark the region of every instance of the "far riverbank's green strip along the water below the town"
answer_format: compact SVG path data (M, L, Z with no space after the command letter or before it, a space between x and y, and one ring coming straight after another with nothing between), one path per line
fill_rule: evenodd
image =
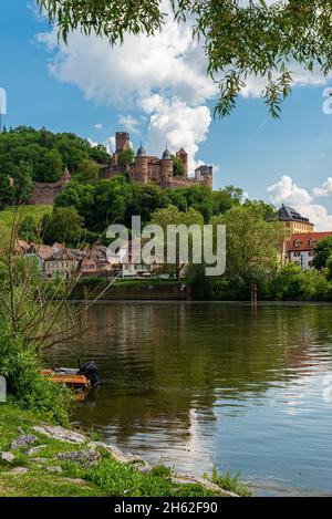
M299 279L298 279L299 278ZM313 279L312 279L313 278ZM197 289L175 279L118 279L83 277L71 292L71 300L104 301L250 301L251 284L239 280L205 279L205 289ZM280 287L279 287L280 286ZM278 288L279 287L279 288ZM102 294L102 295L101 295ZM270 302L330 302L332 286L317 271L300 271L279 284L258 286L258 301Z

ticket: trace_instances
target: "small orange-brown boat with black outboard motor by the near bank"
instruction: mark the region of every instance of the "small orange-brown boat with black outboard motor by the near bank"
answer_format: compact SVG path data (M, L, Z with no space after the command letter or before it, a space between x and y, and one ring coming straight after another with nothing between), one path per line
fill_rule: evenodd
M86 362L79 369L58 367L55 370L42 370L41 375L58 384L65 384L69 387L87 391L92 386L101 384L97 367L93 361Z

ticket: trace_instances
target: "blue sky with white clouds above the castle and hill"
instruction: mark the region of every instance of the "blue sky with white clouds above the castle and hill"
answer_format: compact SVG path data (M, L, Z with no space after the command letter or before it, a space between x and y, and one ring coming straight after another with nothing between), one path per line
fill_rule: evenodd
M168 11L168 0L163 0ZM134 148L160 155L184 146L190 172L215 167L214 188L241 187L250 198L288 204L317 230L332 230L331 77L294 66L292 95L272 120L250 79L235 112L214 120L216 85L190 27L169 17L154 38L128 35L111 48L75 32L69 44L40 17L33 0L0 1L0 89L7 126L74 132L112 149L128 131ZM325 94L324 94L325 93ZM331 113L330 113L331 112Z

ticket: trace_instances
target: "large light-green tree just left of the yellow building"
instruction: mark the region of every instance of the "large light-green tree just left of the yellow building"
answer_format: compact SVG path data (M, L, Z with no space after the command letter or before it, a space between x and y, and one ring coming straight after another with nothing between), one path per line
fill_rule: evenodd
M225 215L214 217L212 225L226 225L227 274L252 277L272 272L278 264L282 241L280 222L268 222L257 205L235 206Z

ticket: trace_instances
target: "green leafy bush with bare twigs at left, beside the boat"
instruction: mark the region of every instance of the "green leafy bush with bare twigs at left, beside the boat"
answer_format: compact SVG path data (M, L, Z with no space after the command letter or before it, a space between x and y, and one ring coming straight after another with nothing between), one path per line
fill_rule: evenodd
M42 411L50 419L64 423L68 421L70 392L39 374L43 349L61 342L63 338L66 323L62 322L61 310L62 301L48 301L44 282L40 280L33 261L11 255L8 259L2 257L0 375L6 377L10 395L21 405Z

